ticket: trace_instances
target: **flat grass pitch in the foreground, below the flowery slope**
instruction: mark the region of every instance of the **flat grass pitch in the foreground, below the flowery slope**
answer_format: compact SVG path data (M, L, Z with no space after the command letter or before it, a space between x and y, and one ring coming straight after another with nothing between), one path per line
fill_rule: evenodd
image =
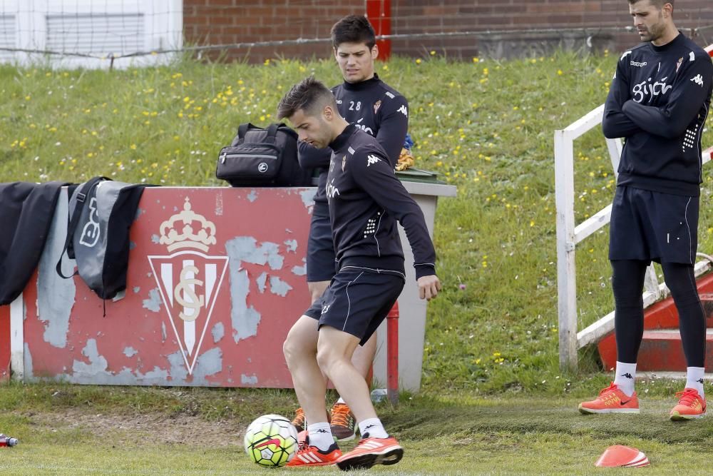
M573 395L460 392L405 397L398 407L381 403L377 410L399 435L406 456L399 465L370 472L590 474L605 448L620 444L646 452L652 462L647 471L655 474L709 473L705 463L694 462L713 457L713 423L670 422L670 397L643 399L640 415L584 416L578 401ZM291 393L275 390L6 385L0 428L12 428L21 443L1 450L0 468L14 475L267 474L242 450L246 417L289 414L291 405Z

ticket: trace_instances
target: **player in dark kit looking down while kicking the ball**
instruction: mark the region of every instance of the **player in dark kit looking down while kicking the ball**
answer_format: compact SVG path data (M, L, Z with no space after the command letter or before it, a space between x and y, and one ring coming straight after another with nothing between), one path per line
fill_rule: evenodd
M309 435L288 466L336 463L342 470L352 470L393 465L404 450L376 416L352 354L379 327L404 288L404 251L396 221L409 238L419 293L425 299L436 297L441 289L434 245L421 209L396 178L379 141L339 115L337 101L324 84L310 77L293 86L280 101L277 117L288 118L300 140L332 149L326 191L338 262L338 272L322 298L290 330L311 320L307 322L319 332L309 343L309 352L290 348L289 335L284 345L297 400L309 422ZM310 315L319 315L319 320ZM329 433L325 375L359 425L359 445L346 455Z

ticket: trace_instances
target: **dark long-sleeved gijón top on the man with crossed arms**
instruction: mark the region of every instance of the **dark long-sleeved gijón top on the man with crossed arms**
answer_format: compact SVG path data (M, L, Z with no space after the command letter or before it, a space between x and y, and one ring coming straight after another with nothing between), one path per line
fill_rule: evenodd
M622 55L602 121L605 136L626 138L617 185L699 196L712 83L710 57L681 33Z

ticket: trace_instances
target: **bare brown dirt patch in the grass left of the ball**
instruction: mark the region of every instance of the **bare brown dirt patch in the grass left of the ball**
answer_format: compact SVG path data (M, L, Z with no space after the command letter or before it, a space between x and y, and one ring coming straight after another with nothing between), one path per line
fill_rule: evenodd
M27 413L30 421L45 429L80 430L117 445L132 442L152 444L200 444L209 447L239 445L242 447L244 425L230 421L207 422L191 415L104 415L79 410L62 413Z

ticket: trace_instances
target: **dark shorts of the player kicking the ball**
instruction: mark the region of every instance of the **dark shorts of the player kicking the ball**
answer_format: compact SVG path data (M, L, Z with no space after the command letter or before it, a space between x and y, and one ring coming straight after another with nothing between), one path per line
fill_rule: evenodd
M304 315L319 320L320 328L329 325L342 330L361 339L359 344L364 345L386 318L403 289L401 273L340 270L322 298Z

